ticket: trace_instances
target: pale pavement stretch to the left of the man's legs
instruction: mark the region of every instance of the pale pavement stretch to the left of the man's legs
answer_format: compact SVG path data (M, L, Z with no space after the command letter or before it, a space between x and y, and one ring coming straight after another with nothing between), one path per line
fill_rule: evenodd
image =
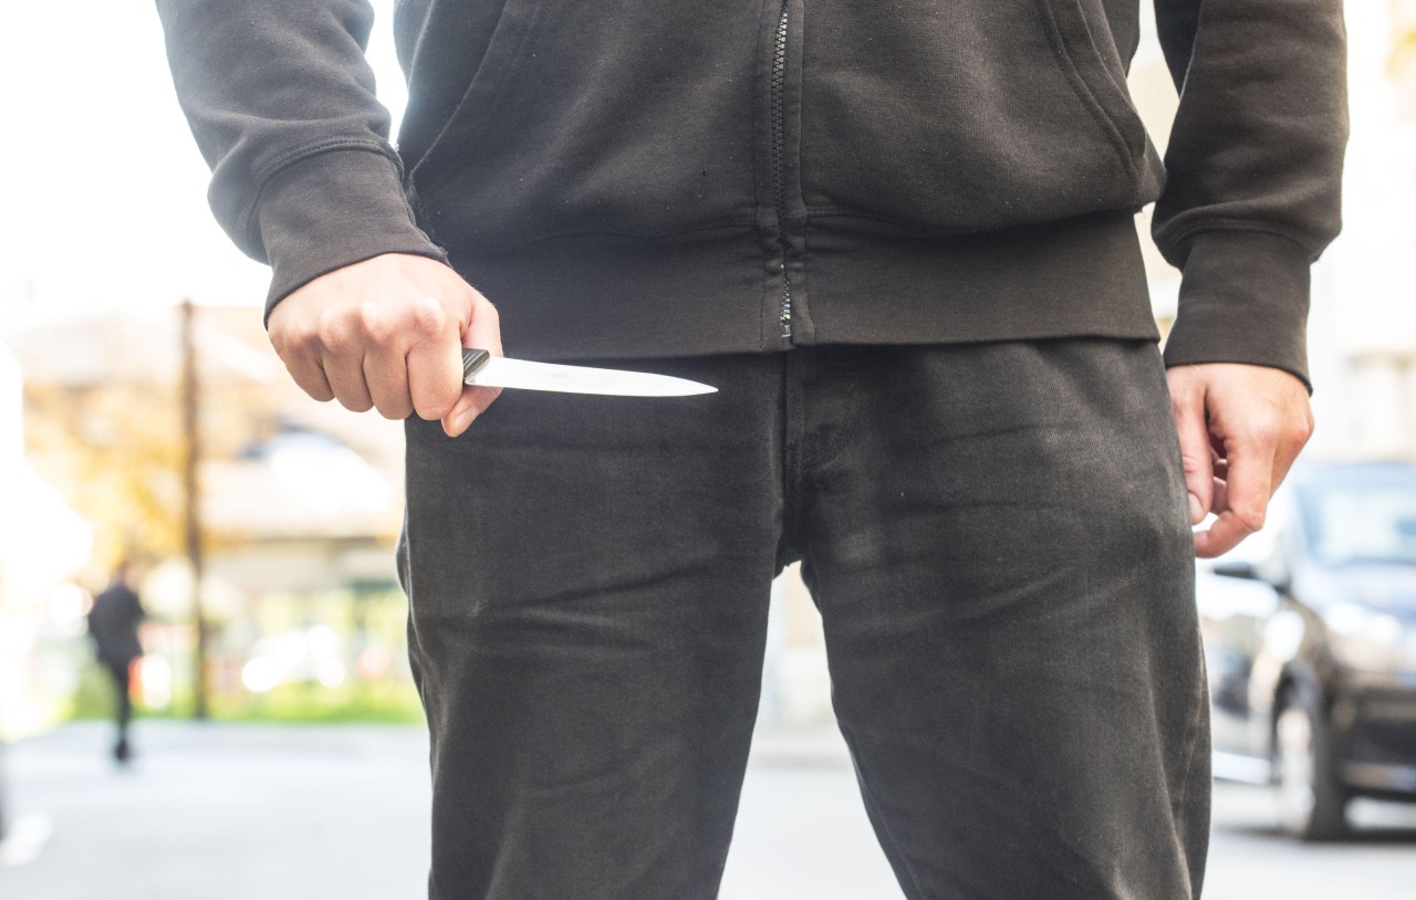
M10 747L14 828L51 833L33 862L0 869L0 897L418 896L428 791L416 729L144 722L136 737L130 771L103 756L99 725Z

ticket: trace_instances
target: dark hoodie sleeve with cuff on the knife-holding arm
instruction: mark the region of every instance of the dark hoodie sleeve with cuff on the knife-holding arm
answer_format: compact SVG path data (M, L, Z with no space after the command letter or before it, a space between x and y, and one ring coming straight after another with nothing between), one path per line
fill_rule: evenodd
M306 282L379 253L445 260L413 222L364 59L365 0L157 0L208 200L272 267L266 317Z

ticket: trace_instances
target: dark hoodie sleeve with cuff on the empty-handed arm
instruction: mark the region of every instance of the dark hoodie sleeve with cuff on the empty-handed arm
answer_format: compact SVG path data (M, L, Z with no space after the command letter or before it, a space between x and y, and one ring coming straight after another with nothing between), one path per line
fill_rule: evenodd
M1180 89L1154 238L1182 272L1165 364L1308 383L1310 269L1341 226L1341 0L1155 0Z

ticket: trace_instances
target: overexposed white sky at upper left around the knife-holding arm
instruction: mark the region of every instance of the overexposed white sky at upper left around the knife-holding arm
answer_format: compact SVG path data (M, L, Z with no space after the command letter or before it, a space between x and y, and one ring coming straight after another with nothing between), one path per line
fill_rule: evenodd
M402 109L392 0L370 50ZM207 208L150 0L6 4L0 28L0 317L198 303L259 306L269 270Z

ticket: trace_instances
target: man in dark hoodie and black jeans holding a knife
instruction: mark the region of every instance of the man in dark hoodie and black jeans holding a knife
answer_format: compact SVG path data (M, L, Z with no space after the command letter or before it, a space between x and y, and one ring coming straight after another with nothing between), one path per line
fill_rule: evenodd
M159 0L272 344L406 417L432 897L714 896L793 559L909 897L1199 893L1192 556L1311 427L1344 37L1340 0L1157 7L1164 167L1134 0L406 0L396 151L360 0ZM469 432L503 333L719 393Z

